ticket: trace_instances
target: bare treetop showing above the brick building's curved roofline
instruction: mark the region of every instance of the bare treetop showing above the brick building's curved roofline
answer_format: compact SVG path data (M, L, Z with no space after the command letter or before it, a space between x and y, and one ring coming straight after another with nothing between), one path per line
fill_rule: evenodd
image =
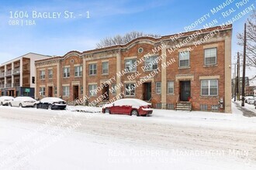
M161 37L160 35L155 35L155 34L144 34L143 32L130 32L130 33L126 33L126 35L124 36L114 36L114 37L106 37L102 40L100 40L99 43L96 44L97 49L99 48L103 48L103 47L107 47L107 46L115 46L115 45L123 45L126 44L130 41L132 41L133 39L137 39L138 37L141 36L151 36L154 38L159 38Z

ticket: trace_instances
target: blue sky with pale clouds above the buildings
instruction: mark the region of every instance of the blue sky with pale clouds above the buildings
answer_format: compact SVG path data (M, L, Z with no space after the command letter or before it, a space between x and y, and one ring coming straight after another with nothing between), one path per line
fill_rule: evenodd
M227 6L213 14L211 10L223 2ZM234 0L228 5L222 0L1 1L0 63L30 52L63 56L71 50L95 49L100 39L131 31L161 36L185 32L185 27L194 25L203 16L206 21L192 29L202 29L214 20L217 21L215 26L221 25L245 8L256 7L254 0L239 2ZM43 15L43 12L46 13ZM226 12L226 16L222 12ZM234 21L233 58L237 51L242 52L236 35L243 31L249 15ZM255 70L247 70L247 73L252 76Z

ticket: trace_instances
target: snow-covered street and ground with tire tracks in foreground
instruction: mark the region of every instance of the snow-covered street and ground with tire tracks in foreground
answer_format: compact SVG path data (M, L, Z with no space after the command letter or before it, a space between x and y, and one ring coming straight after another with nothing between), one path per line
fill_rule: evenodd
M238 106L151 117L0 107L0 169L256 169L256 117Z

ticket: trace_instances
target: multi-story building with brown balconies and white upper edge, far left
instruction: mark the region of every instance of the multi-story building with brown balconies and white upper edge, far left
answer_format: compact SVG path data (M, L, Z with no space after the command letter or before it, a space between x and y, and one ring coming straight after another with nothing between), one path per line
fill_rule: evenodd
M36 53L27 53L0 65L0 95L1 96L29 96L34 97L35 60L45 59Z

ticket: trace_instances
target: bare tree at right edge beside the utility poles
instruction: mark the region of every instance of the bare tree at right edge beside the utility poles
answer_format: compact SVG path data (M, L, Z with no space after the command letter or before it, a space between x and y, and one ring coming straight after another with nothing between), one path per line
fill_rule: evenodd
M251 17L247 19L247 54L246 65L256 68L256 11L251 14ZM238 42L240 46L244 46L244 33L237 34ZM256 75L255 75L256 76Z

